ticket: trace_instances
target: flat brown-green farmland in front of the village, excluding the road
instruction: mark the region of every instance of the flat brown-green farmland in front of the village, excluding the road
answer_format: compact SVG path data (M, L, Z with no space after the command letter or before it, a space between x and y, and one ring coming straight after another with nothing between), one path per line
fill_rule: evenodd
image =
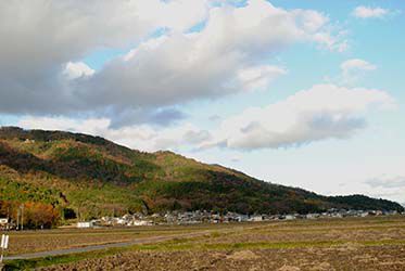
M405 217L26 232L11 235L10 253L150 236L173 237L7 261L7 266L9 270L405 270Z

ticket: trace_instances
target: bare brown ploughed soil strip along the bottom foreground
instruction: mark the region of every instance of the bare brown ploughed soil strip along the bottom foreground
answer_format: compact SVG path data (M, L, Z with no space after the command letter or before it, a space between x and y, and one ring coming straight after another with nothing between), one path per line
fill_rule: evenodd
M132 251L40 270L404 270L404 246Z

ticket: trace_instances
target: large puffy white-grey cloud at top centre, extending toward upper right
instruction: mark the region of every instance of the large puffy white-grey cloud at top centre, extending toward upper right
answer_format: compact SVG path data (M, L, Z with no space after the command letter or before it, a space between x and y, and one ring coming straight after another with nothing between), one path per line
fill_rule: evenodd
M264 65L263 59L296 41L328 48L338 42L316 37L330 36L328 21L315 11L289 12L264 0L243 8L213 8L201 31L170 33L142 42L84 81L77 94L91 107L111 105L119 111L264 88L286 70Z

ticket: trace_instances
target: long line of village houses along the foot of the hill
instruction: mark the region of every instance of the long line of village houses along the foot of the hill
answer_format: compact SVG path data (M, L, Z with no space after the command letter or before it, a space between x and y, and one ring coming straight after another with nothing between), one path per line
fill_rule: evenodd
M87 222L78 222L77 228L92 227L132 227L132 225L154 225L154 224L197 224L197 223L229 223L229 222L258 222L274 220L294 219L319 219L319 218L344 218L344 217L367 217L367 216L392 216L397 211L381 210L345 210L329 209L320 214L288 214L288 215L242 215L237 212L218 212L195 210L195 211L170 211L166 214L153 214L144 216L142 214L125 215L123 217L102 217ZM405 215L403 212L402 215Z

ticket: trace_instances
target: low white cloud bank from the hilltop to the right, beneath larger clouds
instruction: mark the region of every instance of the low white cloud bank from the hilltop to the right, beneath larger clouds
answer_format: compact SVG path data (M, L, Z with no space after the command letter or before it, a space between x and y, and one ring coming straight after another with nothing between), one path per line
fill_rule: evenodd
M156 129L149 125L111 128L109 119L74 120L27 117L24 128L61 129L105 137L143 150L204 150L227 147L240 151L293 147L326 139L345 139L367 125L365 113L395 106L381 90L349 89L316 85L283 101L264 107L250 107L225 118L217 128L202 130L183 124Z

